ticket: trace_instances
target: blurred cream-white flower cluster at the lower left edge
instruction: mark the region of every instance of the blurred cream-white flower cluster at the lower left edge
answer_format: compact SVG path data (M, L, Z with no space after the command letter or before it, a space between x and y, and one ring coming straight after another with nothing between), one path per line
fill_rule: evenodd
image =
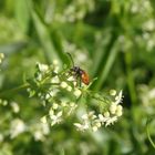
M9 102L0 99L0 110L7 110L7 112L1 115L1 123L4 125L1 126L0 143L3 142L6 137L13 140L23 133L30 133L35 141L43 142L45 136L50 134L50 127L45 123L39 122L29 124L24 122L20 116L21 111L17 102Z

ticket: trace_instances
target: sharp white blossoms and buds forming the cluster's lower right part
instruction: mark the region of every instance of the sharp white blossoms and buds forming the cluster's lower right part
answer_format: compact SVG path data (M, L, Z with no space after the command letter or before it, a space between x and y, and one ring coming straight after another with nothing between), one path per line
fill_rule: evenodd
M103 113L95 114L94 111L91 111L86 114L83 114L81 117L82 123L74 123L74 125L80 131L92 130L97 131L102 125L108 126L117 121L117 118L123 113L123 107L120 105L122 102L122 91L116 95L116 91L113 90L114 101L110 104L108 110Z

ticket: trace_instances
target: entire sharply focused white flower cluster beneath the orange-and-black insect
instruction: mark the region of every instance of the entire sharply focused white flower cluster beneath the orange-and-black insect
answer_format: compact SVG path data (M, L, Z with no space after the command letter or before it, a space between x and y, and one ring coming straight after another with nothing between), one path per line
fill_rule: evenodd
M108 126L122 115L122 91L111 90L101 94L89 90L90 85L79 84L70 69L60 70L58 61L51 65L37 64L34 78L28 80L30 96L41 100L44 115L41 122L51 126L75 116L79 131L97 131Z

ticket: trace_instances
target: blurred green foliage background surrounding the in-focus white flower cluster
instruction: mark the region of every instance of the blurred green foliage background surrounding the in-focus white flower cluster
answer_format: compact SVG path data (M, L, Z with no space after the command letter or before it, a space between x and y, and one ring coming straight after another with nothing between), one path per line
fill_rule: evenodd
M4 0L0 1L0 155L154 155L146 121L155 114L154 0ZM113 127L80 133L72 120L34 138L43 115L25 90L2 93L32 76L37 62L78 65L97 78L92 90L124 92L124 115ZM91 69L91 70L89 70ZM3 94L3 95L1 95ZM17 102L19 113L11 104ZM21 118L29 132L10 138L11 122ZM155 121L149 135L155 142Z

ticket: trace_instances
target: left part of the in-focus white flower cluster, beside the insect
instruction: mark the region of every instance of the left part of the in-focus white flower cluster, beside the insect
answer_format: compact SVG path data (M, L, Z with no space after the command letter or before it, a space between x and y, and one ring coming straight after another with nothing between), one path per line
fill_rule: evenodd
M34 79L28 82L29 95L37 95L43 106L48 107L48 112L41 117L42 123L50 122L53 126L75 111L82 91L75 86L78 83L69 72L59 71L56 61L50 66L38 63Z

